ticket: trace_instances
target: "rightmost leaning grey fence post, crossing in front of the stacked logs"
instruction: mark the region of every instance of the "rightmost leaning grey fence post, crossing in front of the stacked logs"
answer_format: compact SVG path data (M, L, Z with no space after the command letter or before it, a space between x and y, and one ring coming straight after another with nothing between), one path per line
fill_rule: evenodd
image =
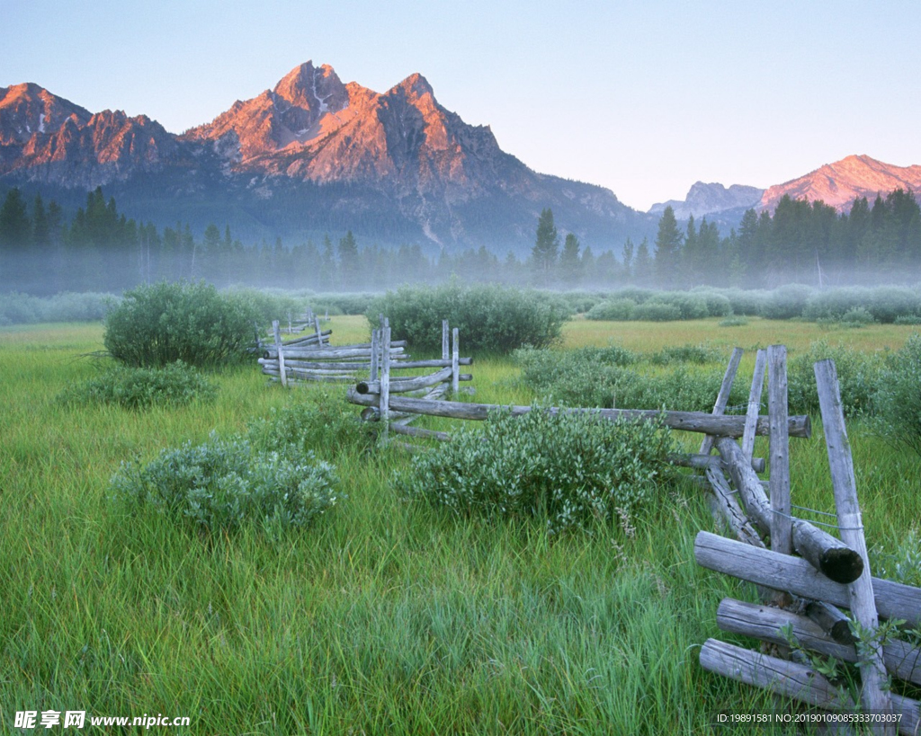
M847 441L845 428L845 411L841 404L841 389L838 385L838 373L834 361L825 360L815 363L816 385L819 388L819 408L822 412L822 427L825 431L825 447L828 450L828 465L832 472L834 489L834 506L838 515L838 530L845 545L855 550L864 561L863 574L847 586L851 612L860 624L871 634L880 626L880 618L873 598L873 581L870 578L869 558L867 556L867 539L864 536L860 505L857 503L857 480L854 477L854 460L851 446ZM870 711L882 714L892 713L892 698L886 684L886 668L882 661L879 641L867 642L871 652L869 657L862 654L861 661L866 662L861 669L863 690L860 701ZM858 653L860 651L858 650ZM874 729L877 733L895 733L892 723L880 725Z

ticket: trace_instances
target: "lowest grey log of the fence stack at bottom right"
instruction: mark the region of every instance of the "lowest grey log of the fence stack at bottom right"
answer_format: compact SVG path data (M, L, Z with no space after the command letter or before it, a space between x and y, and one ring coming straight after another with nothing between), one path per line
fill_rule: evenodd
M715 638L707 639L701 648L700 664L707 672L761 687L822 710L849 712L856 708L842 688L831 684L822 674L806 665L742 649ZM892 695L892 715L898 717L899 733L917 736L921 732L919 705L917 700L909 697ZM834 720L829 722L834 723ZM893 722L896 722L895 719Z

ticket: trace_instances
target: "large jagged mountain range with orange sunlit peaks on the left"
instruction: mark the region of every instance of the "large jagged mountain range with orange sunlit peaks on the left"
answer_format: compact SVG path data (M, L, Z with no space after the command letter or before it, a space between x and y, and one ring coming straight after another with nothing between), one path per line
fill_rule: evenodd
M503 152L488 126L439 105L422 75L378 93L311 62L180 135L41 86L0 89L0 184L59 201L103 186L138 219L199 232L227 223L251 242L351 229L384 245L522 254L545 207L596 251L655 229L611 190Z

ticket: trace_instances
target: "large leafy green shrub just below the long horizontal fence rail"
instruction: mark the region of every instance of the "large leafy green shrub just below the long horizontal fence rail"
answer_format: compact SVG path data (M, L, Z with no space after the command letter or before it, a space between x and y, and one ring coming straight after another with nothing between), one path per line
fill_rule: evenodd
M593 414L496 412L484 424L416 456L398 488L462 515L537 516L555 534L653 500L671 446L656 422Z

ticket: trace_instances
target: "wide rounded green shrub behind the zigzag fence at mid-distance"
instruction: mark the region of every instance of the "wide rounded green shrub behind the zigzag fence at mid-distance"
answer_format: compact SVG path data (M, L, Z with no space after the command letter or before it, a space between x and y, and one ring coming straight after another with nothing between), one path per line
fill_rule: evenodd
M461 351L507 352L522 345L543 347L560 336L570 314L560 298L498 286L402 286L379 297L367 312L373 327L378 316L389 317L394 339L406 339L414 350L441 347L441 320L459 328Z

